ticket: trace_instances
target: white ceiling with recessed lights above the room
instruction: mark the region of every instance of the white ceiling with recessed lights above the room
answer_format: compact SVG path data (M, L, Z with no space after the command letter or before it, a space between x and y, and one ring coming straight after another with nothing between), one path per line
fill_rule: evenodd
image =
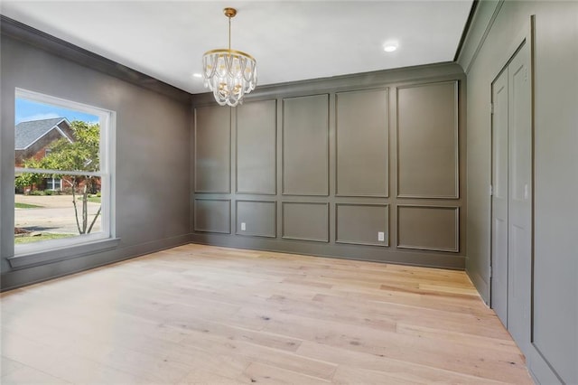
M206 92L200 58L254 56L259 85L452 61L472 0L10 1L0 12L191 93ZM384 52L396 42L396 52Z

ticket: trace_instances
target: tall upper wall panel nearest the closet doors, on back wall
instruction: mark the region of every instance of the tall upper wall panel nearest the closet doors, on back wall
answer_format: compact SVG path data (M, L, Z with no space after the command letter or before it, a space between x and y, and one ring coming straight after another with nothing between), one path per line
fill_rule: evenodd
M458 88L452 80L396 89L398 198L460 198Z

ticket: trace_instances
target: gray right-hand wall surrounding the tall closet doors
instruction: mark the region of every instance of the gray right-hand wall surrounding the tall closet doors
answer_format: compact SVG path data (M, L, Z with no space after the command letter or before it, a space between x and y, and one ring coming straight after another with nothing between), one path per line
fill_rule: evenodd
M459 62L468 78L467 271L489 301L490 83L536 15L532 344L543 383L578 383L578 3L480 2Z

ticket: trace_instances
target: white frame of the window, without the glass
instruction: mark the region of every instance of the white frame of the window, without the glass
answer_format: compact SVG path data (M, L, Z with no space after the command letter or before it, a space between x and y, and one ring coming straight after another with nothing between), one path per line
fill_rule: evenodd
M20 268L33 264L50 263L57 259L81 257L86 254L116 247L119 241L119 239L116 238L116 218L114 215L116 185L116 112L28 89L16 88L14 96L15 99L28 99L54 107L77 110L98 117L100 127L100 166L98 172L62 172L61 170L14 167L14 174L22 172L42 172L43 174L79 174L100 177L102 209L100 212L101 230L99 232L64 239L49 239L20 245L14 244L14 257L8 258L11 266L13 268Z

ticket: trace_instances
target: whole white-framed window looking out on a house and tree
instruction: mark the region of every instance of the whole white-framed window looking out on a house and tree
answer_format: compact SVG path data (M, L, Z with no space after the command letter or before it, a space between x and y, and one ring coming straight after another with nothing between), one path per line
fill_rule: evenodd
M15 96L16 265L114 239L115 113L23 89Z

